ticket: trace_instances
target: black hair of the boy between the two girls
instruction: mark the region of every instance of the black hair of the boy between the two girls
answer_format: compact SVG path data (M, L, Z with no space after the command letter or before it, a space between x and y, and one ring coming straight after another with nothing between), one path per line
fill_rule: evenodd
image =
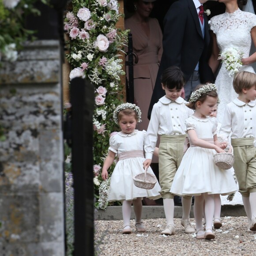
M176 87L177 90L181 90L185 84L184 73L176 66L166 68L162 73L161 83L168 89Z

